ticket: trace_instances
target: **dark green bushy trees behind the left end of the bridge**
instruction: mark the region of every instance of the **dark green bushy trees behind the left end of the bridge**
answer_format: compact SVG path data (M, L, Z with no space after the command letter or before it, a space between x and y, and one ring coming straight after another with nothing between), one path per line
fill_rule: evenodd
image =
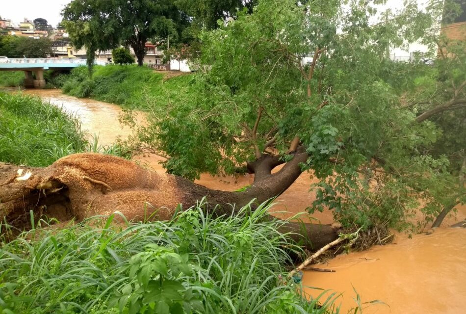
M0 36L0 55L9 58L45 58L52 54L52 41L48 38Z

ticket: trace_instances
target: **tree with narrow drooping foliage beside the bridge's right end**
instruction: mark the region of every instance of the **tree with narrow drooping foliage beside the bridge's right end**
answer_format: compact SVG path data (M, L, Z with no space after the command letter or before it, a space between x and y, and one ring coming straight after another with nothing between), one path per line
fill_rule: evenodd
M108 13L107 13L108 12ZM92 75L96 52L119 45L121 29L114 15L113 1L74 0L61 14L64 26L76 49L86 48L89 76Z

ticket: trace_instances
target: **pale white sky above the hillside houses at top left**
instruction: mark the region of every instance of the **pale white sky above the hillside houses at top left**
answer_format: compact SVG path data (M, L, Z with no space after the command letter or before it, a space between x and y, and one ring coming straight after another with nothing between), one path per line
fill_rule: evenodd
M61 22L61 10L69 2L71 0L0 0L0 16L12 23L23 22L24 18L43 18L56 26Z

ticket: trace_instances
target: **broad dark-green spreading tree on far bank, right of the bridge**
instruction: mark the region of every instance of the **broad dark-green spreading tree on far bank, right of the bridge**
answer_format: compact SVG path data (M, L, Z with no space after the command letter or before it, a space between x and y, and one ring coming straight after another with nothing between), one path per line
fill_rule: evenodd
M133 49L139 65L149 39L170 36L174 43L183 42L189 24L170 0L74 0L63 10L63 20L77 48L86 46L95 54L122 44Z

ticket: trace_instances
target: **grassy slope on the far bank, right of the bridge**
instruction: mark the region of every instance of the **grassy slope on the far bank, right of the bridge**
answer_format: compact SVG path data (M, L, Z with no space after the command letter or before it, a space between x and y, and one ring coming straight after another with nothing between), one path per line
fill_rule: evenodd
M65 94L122 105L129 109L148 109L154 103L175 101L177 95L190 92L190 75L163 79L148 67L137 65L96 66L92 78L86 67L78 67L54 82Z

